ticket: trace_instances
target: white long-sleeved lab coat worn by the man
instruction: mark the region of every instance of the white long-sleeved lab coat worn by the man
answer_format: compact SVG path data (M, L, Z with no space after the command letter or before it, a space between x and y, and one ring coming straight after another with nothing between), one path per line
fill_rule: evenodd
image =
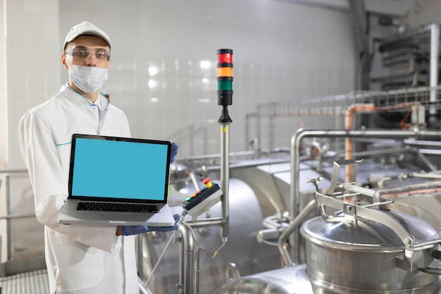
M97 106L97 105L100 106ZM101 116L99 114L101 109ZM68 195L73 133L130 137L128 120L103 95L95 104L68 86L27 111L19 124L20 149L44 224L51 294L138 294L135 240L116 236L116 226L63 225L57 217ZM90 150L97 160L99 150ZM89 175L94 180L94 175Z

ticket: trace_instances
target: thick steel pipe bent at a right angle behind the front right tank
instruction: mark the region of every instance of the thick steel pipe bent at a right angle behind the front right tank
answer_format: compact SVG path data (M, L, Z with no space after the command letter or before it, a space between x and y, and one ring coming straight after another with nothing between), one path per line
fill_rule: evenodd
M401 138L406 137L441 137L439 131L426 130L313 130L301 128L291 138L291 185L290 185L290 217L299 214L299 159L300 142L304 137L373 137L373 138ZM299 233L294 233L293 244L298 244ZM295 248L295 262L300 255L299 246Z

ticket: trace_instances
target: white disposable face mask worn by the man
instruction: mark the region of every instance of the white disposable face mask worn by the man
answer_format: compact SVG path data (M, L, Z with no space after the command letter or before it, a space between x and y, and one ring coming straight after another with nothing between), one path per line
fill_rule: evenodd
M94 68L92 66L74 66L69 75L77 87L90 94L103 87L108 80L107 68Z

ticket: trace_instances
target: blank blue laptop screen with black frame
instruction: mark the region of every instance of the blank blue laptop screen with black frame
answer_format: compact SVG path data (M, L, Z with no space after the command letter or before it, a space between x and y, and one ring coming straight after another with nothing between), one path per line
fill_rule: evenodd
M73 135L69 193L81 200L165 203L170 142Z

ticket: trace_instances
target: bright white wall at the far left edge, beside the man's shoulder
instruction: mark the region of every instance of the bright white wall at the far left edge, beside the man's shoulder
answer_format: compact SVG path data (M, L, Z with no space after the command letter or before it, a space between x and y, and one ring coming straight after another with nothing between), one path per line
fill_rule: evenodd
M18 121L23 113L44 102L60 86L58 63L58 1L0 1L0 170L23 169L18 147ZM58 54L58 56L57 56ZM33 196L27 173L0 173L0 216L6 215L6 179L11 185L8 206L11 214L33 212ZM34 221L32 219L32 221ZM17 226L21 226L20 230ZM40 231L36 230L39 229ZM42 235L41 227L29 219L11 221L12 235ZM2 261L8 242L6 221L0 220ZM41 237L40 237L41 238ZM11 244L17 248L32 247L29 240Z

